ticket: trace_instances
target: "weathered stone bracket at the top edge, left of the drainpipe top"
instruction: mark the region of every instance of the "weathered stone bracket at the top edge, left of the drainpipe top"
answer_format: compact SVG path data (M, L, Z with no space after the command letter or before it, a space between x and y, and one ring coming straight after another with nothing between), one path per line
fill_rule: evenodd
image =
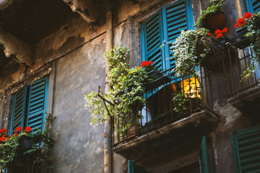
M96 22L95 0L63 0L73 12L78 12L88 23Z

